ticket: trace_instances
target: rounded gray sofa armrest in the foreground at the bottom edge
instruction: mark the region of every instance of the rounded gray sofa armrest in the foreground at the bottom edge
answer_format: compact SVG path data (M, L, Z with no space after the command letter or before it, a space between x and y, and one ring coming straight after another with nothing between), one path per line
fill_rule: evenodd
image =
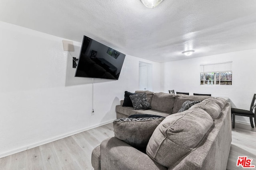
M152 160L147 154L116 137L108 138L100 144L101 167L104 170L167 170Z

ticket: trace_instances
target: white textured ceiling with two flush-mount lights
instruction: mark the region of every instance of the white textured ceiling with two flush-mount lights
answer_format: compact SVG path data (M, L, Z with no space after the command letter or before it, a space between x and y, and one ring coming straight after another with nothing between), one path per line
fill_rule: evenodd
M0 21L157 62L256 48L256 0L0 0Z

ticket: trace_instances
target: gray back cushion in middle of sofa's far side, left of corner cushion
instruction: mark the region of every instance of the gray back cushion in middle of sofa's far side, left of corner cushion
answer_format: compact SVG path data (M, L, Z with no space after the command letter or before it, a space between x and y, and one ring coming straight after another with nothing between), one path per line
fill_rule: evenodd
M151 101L151 109L163 111L166 113L172 113L174 106L175 94L168 93L154 93Z

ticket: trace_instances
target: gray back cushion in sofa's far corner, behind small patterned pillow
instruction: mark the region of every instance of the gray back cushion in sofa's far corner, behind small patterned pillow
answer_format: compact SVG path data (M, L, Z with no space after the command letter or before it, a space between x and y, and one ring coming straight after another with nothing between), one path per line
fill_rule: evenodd
M188 96L186 94L177 94L175 97L175 102L174 102L174 106L172 109L172 113L178 113L178 111L180 110L182 104L186 101L203 101L205 99L208 98L213 98L211 96Z

